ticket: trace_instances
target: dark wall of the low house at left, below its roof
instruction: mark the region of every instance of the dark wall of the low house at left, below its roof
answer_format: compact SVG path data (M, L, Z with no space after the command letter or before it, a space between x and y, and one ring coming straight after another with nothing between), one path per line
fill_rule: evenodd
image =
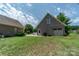
M0 35L13 36L18 31L21 32L21 30L22 29L19 29L19 28L16 28L16 27L11 27L11 26L1 25L0 24Z

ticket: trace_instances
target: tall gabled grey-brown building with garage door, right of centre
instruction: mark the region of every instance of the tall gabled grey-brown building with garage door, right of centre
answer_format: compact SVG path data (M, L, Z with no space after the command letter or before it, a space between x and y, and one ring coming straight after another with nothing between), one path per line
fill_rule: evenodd
M38 35L64 35L65 24L56 19L49 13L43 18L43 20L37 26Z

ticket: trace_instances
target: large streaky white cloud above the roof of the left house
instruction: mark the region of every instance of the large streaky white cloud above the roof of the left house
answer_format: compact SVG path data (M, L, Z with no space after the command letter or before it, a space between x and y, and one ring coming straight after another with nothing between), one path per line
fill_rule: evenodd
M0 6L2 6L0 7L0 14L15 18L23 25L30 23L33 26L36 26L38 23L37 19L33 15L25 14L24 12L12 7L10 4L0 4Z

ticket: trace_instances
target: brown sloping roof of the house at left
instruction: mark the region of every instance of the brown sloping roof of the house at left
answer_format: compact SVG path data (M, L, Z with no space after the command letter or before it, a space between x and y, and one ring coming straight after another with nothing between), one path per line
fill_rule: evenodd
M3 15L0 15L0 24L23 28L23 25L19 21Z

